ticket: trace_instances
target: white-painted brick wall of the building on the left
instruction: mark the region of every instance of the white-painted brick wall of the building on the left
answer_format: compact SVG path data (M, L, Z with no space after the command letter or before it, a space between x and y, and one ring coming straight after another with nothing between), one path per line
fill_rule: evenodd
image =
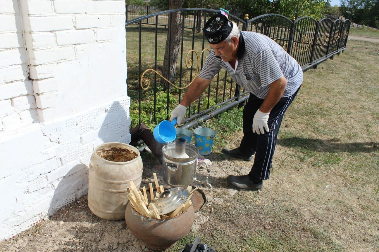
M0 240L88 192L103 142L130 142L125 2L0 0Z

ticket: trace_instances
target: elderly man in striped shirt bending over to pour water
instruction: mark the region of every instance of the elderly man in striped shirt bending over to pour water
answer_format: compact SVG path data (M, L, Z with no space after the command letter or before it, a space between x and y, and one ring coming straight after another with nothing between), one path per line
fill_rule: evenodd
M283 115L299 91L303 80L301 66L269 37L240 31L226 15L216 14L205 24L204 36L211 51L183 100L171 112L171 121L180 125L186 107L198 99L222 69L251 94L243 110L243 139L240 147L223 148L232 158L250 161L251 171L243 176L227 176L237 190L261 190L270 175L277 134Z

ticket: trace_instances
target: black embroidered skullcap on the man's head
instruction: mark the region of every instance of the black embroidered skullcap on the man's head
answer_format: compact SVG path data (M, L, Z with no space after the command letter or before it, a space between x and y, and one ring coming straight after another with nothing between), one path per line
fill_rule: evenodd
M223 14L216 14L205 23L204 36L215 45L226 39L232 31L233 23Z

